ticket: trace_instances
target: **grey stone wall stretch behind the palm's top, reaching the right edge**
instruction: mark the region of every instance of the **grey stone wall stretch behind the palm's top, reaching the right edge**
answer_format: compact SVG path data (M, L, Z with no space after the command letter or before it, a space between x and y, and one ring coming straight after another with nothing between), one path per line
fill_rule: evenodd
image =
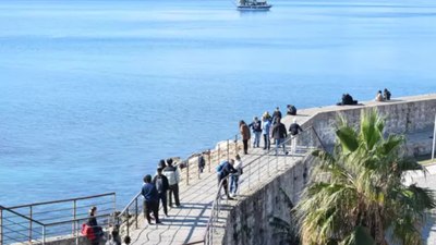
M367 106L347 106L344 108L316 113L304 123L313 126L326 146L335 144L335 125L339 114L358 125L362 110L377 108L386 119L386 134L404 134L408 155L428 155L432 152L433 127L436 114L436 99L417 101L390 101Z

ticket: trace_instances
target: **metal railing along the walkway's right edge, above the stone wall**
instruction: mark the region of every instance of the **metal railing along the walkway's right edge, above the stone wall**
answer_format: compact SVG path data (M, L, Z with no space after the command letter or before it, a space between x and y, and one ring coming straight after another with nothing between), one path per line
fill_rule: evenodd
M287 146L289 145L290 151L287 151ZM251 160L249 163L245 163L243 166L243 171L246 172L247 174L244 182L247 184L249 189L252 189L253 187L258 187L262 185L261 177L262 173L266 171L266 174L269 176L272 175L272 173L278 173L279 171L279 157L282 157L283 155L278 155L276 154L276 150L280 151L282 147L284 146L284 155L288 155L284 157L284 166L288 166L287 159L288 157L295 157L300 156L303 157L310 150L314 148L323 148L325 149L325 146L319 138L319 135L315 131L314 127L310 126L296 136L289 136L288 138L284 139L283 143L281 143L276 149L276 145L271 145L271 149L266 151L265 154L256 157L255 159ZM299 147L300 146L300 147ZM288 148L289 148L288 147ZM271 155L272 152L272 155ZM255 174L253 172L253 166L258 164L256 167L257 173ZM254 175L257 175L255 179ZM230 175L228 175L223 180L228 180ZM219 213L221 211L221 188L222 188L222 182L220 182L218 192L214 198L211 209L210 209L210 217L207 222L206 231L204 234L204 244L206 245L211 245L214 244L214 234L216 233L216 229L218 228L218 219L219 219Z

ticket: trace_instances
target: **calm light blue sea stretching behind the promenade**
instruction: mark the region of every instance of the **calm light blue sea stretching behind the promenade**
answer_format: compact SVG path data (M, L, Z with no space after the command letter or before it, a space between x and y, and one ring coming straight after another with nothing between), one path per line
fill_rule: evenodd
M436 93L436 3L0 1L0 205L117 192L284 108Z

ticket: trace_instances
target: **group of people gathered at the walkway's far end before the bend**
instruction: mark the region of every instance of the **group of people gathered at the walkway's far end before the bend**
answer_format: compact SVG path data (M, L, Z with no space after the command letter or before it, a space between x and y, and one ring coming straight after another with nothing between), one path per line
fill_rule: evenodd
M292 105L288 105L287 114L295 115L295 107ZM241 133L242 143L244 145L243 149L245 155L249 154L249 140L251 139L250 128L254 134L253 148L259 147L261 136L263 135L265 150L270 149L270 138L272 138L275 139L276 144L276 155L278 154L278 148L280 145L282 145L283 147L283 152L288 154L283 144L284 139L288 137L288 132L284 124L281 123L281 112L279 107L276 108L272 117L269 115L268 111L265 111L265 113L262 115L262 121L257 117L254 117L253 122L250 124L246 124L243 120L239 122L239 130ZM294 119L289 128L290 134L295 136L301 131L303 130L296 123L296 119Z

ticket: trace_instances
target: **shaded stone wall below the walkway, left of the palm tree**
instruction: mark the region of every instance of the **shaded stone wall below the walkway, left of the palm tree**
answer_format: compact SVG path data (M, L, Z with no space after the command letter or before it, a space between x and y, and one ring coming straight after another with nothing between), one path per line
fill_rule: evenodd
M313 158L298 161L293 167L262 188L249 195L232 208L227 219L222 244L277 245L283 244L282 234L275 234L269 224L271 217L290 219L286 195L295 204L308 177L308 166ZM282 191L281 191L282 189Z

